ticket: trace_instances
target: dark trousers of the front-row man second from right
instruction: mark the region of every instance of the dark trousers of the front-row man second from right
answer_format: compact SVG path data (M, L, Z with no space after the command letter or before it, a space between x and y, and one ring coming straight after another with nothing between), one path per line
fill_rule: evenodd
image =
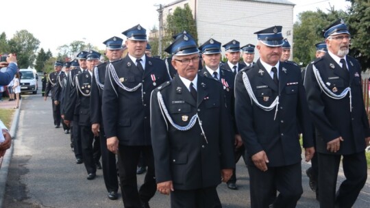
M274 208L294 208L303 193L301 163L290 166L269 167L262 172L256 166L248 166L251 208L268 208L271 196L280 192Z

